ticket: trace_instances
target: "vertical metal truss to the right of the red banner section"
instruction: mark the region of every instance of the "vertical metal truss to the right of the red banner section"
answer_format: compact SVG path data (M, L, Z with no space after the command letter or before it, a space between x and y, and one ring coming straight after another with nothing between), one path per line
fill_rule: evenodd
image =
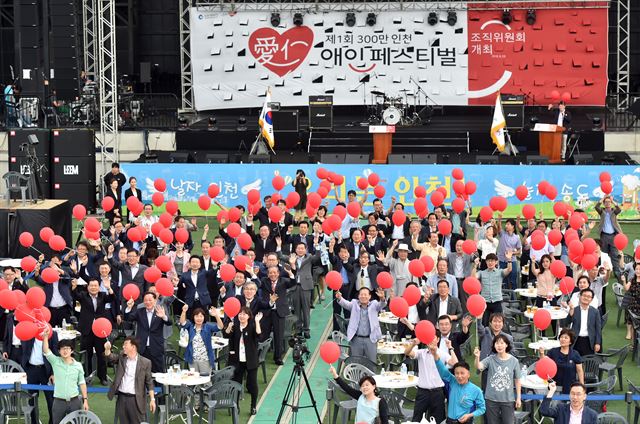
M629 79L631 77L631 0L617 0L616 25L616 108L630 106Z

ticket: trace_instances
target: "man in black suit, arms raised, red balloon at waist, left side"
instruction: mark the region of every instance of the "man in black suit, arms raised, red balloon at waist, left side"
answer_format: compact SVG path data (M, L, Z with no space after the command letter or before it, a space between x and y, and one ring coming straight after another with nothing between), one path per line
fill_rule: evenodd
M87 291L82 292L77 288L76 280L71 283L73 299L80 302L80 316L78 317L78 330L80 331L80 348L87 352L85 363L85 376L93 371L91 369L93 350L95 349L98 364L98 379L103 386L107 385L107 364L104 361L104 341L109 334L97 337L93 334L93 321L98 318L112 320L111 314L105 306L113 301L111 282L107 283L107 293L100 292L100 283L92 278L87 285Z

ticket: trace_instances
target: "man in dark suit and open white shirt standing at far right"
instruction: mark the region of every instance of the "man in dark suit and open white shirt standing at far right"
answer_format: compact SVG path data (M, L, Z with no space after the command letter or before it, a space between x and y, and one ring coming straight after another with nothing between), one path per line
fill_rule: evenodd
M573 348L582 356L598 353L602 346L602 321L598 310L589 305L592 300L593 290L581 290L579 305L569 312L571 329L577 336Z

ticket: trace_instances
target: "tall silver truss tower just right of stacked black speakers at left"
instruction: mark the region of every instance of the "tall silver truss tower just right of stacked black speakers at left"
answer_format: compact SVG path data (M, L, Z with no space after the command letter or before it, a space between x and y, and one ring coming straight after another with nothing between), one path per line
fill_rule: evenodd
M118 162L118 80L116 66L116 19L114 0L94 0L98 28L98 68L102 175L108 163ZM100 184L102 187L102 184Z

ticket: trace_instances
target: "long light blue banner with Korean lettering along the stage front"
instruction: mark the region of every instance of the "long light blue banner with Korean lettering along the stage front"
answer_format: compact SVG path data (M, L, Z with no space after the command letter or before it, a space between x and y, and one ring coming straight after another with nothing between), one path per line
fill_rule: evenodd
M316 170L320 167L344 175L345 182L338 188L338 197L344 198L346 191L356 190L362 199L364 190L358 189L356 182L360 177L371 173L380 176L380 185L386 189L383 199L385 207L392 198L402 202L406 210L413 212L415 200L414 189L424 186L429 194L440 186L447 189L446 205L455 198L451 189L454 182L451 171L460 168L464 172L464 181L474 181L476 193L471 197L474 207L486 206L493 196L503 196L509 202L506 214L516 215L522 204L544 205L550 211L552 203L537 193L537 184L546 180L558 190L556 200L570 202L574 207L592 210L595 202L603 196L600 190L600 174L606 171L611 174L613 195L623 207L622 218L639 218L638 190L640 189L640 167L635 166L522 166L522 165L314 165L314 164L122 164L122 171L127 178L135 176L138 188L143 191L143 198L150 201L154 193L153 180L163 178L167 182L166 199L179 202L197 202L200 195L207 193L209 184L216 183L220 187L220 195L216 199L228 206L247 204L246 194L257 189L261 195L275 192L271 181L274 176L284 177L287 185L282 194L293 190L291 182L296 171L303 169L310 179L309 191L318 189L320 180ZM519 185L529 188L529 197L520 202L515 196ZM371 205L375 198L373 189L367 189L368 197L365 206ZM329 206L336 203L335 192L327 197ZM197 207L197 206L196 206ZM191 208L189 208L191 209ZM370 207L368 208L370 209ZM474 211L474 212L477 212Z

